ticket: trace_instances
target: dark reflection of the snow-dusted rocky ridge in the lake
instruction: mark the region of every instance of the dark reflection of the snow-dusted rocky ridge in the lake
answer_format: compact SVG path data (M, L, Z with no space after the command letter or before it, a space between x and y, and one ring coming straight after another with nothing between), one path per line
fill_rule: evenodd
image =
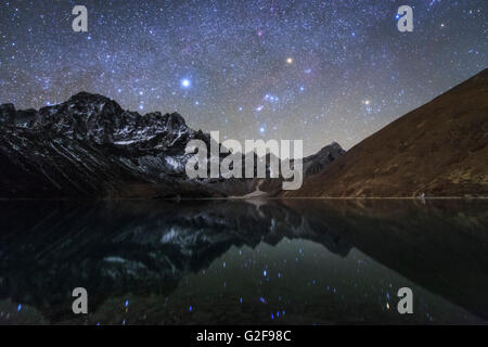
M231 246L300 237L342 256L350 249L325 223L267 204L10 202L1 216L0 296L41 306L51 318L72 313L66 303L77 286L95 293L92 309L103 294L169 293Z

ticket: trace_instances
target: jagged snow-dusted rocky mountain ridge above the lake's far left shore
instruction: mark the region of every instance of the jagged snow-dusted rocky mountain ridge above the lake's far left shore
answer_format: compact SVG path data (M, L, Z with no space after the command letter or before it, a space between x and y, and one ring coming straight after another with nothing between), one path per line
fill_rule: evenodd
M258 180L189 180L193 139L179 114L140 115L103 95L80 92L39 111L0 105L0 197L174 197L244 195ZM304 159L317 174L344 151L336 143ZM281 180L264 189L278 193Z

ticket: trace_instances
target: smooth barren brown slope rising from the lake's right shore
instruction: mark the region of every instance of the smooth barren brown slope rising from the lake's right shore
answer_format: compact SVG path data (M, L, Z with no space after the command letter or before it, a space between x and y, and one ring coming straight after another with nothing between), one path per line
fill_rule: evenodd
M488 69L363 140L282 196L488 196Z

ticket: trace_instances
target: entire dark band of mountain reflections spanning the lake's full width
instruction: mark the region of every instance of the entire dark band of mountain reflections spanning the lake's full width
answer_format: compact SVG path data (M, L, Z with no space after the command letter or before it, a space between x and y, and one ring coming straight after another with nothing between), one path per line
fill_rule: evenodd
M72 314L70 292L169 294L231 246L305 239L347 256L351 245L479 317L488 317L486 202L4 202L0 298Z

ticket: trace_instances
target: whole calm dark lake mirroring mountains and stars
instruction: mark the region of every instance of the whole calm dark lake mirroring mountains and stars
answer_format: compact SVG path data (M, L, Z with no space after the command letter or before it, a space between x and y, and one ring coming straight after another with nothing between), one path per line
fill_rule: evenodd
M1 324L487 324L487 293L488 201L0 202Z

